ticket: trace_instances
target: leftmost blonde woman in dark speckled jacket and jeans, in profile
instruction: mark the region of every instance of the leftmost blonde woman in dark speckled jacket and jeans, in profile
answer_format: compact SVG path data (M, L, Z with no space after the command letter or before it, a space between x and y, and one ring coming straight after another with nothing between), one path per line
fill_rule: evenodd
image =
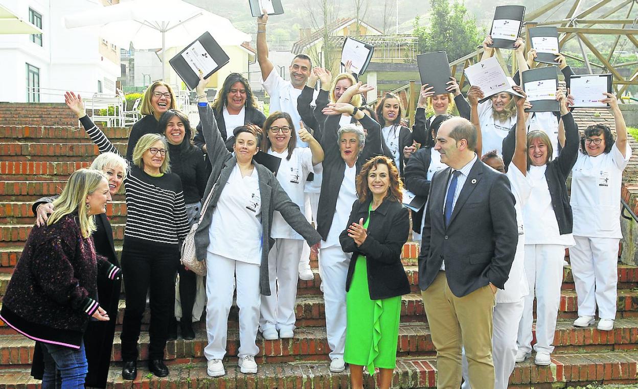
M98 302L97 275L115 279L120 271L96 255L91 234L94 215L105 213L110 199L104 173L73 172L47 222L31 230L4 294L0 319L36 341L43 387L84 388L87 323L109 320Z

